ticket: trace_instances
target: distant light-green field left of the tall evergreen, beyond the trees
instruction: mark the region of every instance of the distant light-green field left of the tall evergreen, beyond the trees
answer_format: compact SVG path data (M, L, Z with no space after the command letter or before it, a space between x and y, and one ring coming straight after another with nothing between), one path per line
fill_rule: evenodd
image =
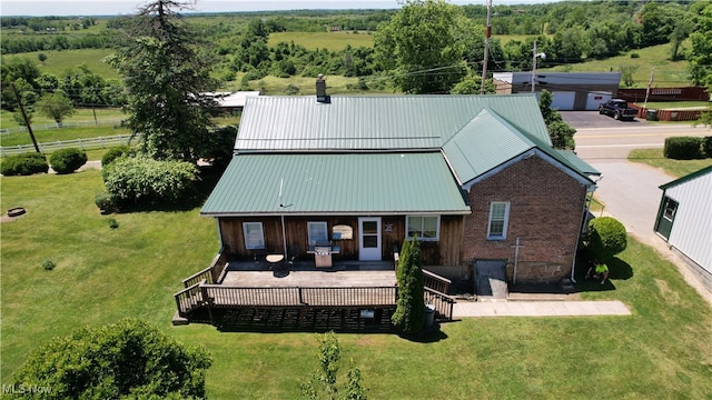
M37 58L39 53L44 53L47 60L44 63L40 62ZM17 54L3 54L2 62L8 62L14 58L28 58L30 61L37 64L40 72L50 73L56 77L61 77L66 71L77 68L78 66L86 64L87 68L93 73L102 77L103 79L119 79L119 73L103 62L103 59L115 53L112 49L80 49L80 50L47 50L47 51L32 51Z

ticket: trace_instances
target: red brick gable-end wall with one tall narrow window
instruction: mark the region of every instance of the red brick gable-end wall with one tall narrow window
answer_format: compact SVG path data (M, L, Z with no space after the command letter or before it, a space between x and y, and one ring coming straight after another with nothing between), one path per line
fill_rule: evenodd
M558 282L571 273L586 188L540 157L530 157L474 184L465 219L463 260L507 260L512 281L520 238L517 282ZM487 240L490 203L510 202L506 240Z

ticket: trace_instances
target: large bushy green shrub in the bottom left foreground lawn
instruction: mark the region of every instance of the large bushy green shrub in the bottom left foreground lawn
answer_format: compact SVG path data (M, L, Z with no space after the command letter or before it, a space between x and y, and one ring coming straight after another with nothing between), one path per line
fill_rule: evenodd
M125 319L51 339L30 354L12 384L51 388L42 399L202 399L211 363L205 348L187 348L156 327Z

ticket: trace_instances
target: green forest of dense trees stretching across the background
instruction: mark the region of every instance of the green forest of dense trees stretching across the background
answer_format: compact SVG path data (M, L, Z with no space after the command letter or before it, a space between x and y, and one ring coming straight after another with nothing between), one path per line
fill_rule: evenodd
M496 3L496 1L495 1ZM575 64L606 59L636 49L670 43L671 60L685 58L683 42L699 29L701 10L710 1L563 1L526 6L494 6L488 49L488 72L523 71L532 68L532 46L546 53L538 68ZM477 76L484 58L487 9L459 6L464 16L457 38L456 58L463 61L455 83ZM240 89L267 76L279 78L328 76L358 77L358 90L393 87L388 79L394 69L373 46L345 46L339 50L308 48L294 41L269 41L270 34L284 32L329 32L377 37L398 10L300 10L238 13L185 13L202 40L200 52L212 60L212 76L220 82L236 82ZM131 19L23 18L2 17L2 56L80 49L116 49L123 46L125 28ZM382 34L383 36L383 34ZM370 38L369 38L370 39ZM366 40L372 43L374 41ZM384 48L384 46L380 46ZM46 58L47 56L44 56ZM632 53L631 57L635 57ZM87 66L77 66L60 74L41 72L37 60L12 58L2 62L2 81L14 82L32 103L42 93L63 90L77 106L122 104L122 83L102 77ZM455 78L453 78L455 79ZM478 79L478 78L475 78ZM702 84L701 81L693 82ZM465 82L467 83L467 82ZM453 84L436 92L451 91ZM464 84L467 86L467 84ZM471 87L474 83L471 82ZM477 83L478 87L478 83ZM397 86L396 86L397 89ZM17 101L2 89L2 108L13 110ZM288 92L287 92L288 94Z

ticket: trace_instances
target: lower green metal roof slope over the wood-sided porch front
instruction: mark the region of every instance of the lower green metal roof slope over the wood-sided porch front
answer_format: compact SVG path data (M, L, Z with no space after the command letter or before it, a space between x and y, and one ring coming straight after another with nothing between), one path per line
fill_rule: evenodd
M441 152L263 153L235 157L200 213L465 214L469 207Z

